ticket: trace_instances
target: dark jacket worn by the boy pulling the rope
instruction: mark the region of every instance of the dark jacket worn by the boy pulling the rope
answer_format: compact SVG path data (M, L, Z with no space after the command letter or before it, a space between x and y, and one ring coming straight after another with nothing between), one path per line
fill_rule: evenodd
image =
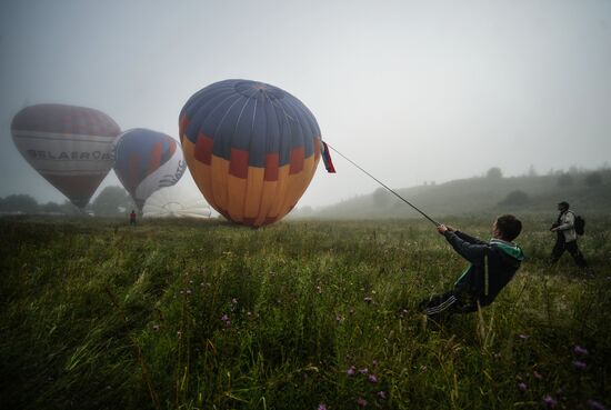
M475 299L481 307L492 303L524 259L522 250L513 242L500 239L484 242L460 231L445 231L444 237L461 257L471 262L454 283L454 290L464 298Z

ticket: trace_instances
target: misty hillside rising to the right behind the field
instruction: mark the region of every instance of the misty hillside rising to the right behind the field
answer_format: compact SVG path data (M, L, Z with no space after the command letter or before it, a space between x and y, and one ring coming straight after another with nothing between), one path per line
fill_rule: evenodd
M397 192L424 212L438 218L499 212L554 212L555 204L561 200L569 201L571 208L581 213L608 213L611 210L611 170L595 173L600 177L595 181L592 181L593 172L541 177L470 178L438 186L398 189ZM508 198L510 194L514 198ZM308 214L313 218L333 219L415 216L418 213L414 210L383 188L371 194L345 200Z

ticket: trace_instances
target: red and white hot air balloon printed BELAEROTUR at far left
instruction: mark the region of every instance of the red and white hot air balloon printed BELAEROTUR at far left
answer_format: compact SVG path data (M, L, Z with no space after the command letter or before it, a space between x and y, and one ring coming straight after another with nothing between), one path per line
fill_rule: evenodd
M37 104L14 116L11 132L30 166L82 209L112 168L112 141L121 130L91 108Z

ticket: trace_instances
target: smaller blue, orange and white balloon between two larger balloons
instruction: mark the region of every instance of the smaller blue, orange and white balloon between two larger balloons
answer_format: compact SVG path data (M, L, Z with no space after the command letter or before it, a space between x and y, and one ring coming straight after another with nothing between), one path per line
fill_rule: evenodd
M140 211L151 193L177 183L187 169L173 138L144 128L134 128L117 138L114 161L117 177Z

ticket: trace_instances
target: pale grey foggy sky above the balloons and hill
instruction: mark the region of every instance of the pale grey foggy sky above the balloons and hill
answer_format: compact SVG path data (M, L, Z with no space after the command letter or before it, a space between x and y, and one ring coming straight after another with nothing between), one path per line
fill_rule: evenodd
M611 159L608 0L3 0L0 197L64 199L12 142L23 107L91 107L178 140L188 98L230 78L299 98L323 140L394 188ZM299 206L377 188L333 159Z

